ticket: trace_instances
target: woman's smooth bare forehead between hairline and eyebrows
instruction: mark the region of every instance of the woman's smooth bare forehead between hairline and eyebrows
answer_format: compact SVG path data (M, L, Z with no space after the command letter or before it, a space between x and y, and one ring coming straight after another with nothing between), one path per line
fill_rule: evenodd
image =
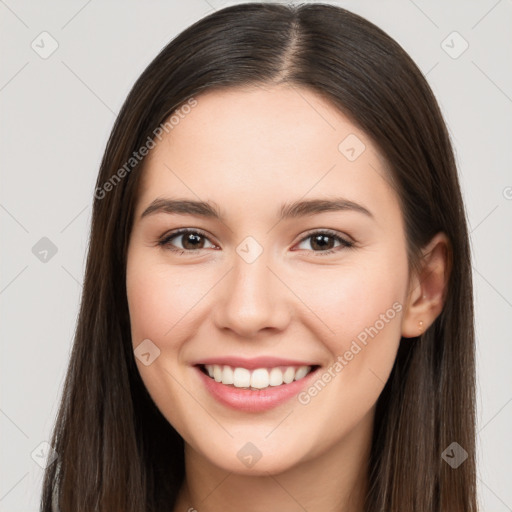
M333 192L396 202L372 141L314 91L230 88L195 99L148 154L141 203L172 194L248 207Z

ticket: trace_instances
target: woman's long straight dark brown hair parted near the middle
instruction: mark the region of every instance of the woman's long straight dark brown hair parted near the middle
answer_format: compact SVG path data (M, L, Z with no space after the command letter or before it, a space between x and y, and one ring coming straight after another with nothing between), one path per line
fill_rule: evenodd
M477 510L470 251L436 99L401 46L360 16L327 4L250 3L179 34L117 117L96 183L82 301L51 439L58 459L45 473L42 512L50 512L52 495L61 512L156 512L175 503L183 440L146 391L131 342L126 254L144 159L130 159L202 91L276 83L327 98L374 142L399 197L411 268L437 232L451 242L445 306L423 335L401 340L377 402L365 509ZM468 455L457 468L442 457L452 442Z

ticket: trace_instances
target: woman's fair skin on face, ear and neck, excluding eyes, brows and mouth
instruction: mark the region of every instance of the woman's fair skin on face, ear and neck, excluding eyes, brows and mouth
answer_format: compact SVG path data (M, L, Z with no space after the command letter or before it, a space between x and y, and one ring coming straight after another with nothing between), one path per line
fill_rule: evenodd
M175 511L362 511L376 401L400 337L417 336L441 312L448 278L443 233L409 275L404 224L388 171L371 140L305 88L208 91L145 162L127 262L133 346L150 339L160 355L137 360L156 405L185 441L186 481ZM366 146L349 161L338 150L355 134ZM357 211L278 222L283 202L342 196ZM155 213L155 198L214 202L225 222ZM201 249L178 228L200 229ZM330 229L315 245L311 230ZM236 252L251 236L263 253ZM194 252L195 251L195 252ZM192 254L193 253L193 254ZM321 374L398 303L397 312L328 385L303 405L294 397L261 413L227 408L191 364L201 358L273 355L313 361ZM361 345L361 344L360 344ZM248 442L261 459L246 467Z

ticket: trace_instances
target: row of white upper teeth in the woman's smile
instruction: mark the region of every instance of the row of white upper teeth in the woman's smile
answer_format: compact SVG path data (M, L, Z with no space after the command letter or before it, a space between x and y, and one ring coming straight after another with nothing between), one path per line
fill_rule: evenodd
M303 379L310 371L311 366L288 366L271 369L257 368L233 368L228 365L207 364L205 365L208 375L222 384L233 385L236 388L265 389L269 386L281 386L290 384L294 380Z

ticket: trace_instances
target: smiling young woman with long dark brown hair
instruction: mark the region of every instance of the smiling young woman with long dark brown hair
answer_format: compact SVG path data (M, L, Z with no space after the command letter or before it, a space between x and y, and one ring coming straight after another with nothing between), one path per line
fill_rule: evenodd
M41 510L477 510L470 270L394 40L322 4L203 18L105 151Z

